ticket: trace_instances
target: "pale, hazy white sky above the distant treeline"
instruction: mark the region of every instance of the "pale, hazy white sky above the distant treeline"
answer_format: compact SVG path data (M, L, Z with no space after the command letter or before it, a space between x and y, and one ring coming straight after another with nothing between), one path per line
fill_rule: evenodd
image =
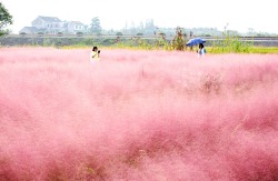
M0 0L13 16L9 27L18 33L38 16L90 24L99 17L103 29L122 29L126 23L153 19L157 27L217 28L247 32L278 33L277 0Z

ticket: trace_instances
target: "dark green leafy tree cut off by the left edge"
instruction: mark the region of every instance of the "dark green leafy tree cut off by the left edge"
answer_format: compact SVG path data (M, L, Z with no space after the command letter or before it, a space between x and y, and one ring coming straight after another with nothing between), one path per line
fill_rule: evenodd
M9 13L9 11L4 8L2 2L0 2L0 36L8 32L8 30L4 30L4 28L8 24L12 24L12 16Z

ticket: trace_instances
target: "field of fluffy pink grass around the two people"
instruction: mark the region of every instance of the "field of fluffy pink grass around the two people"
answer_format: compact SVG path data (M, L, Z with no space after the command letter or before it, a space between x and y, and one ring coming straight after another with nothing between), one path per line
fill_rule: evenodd
M0 49L0 180L278 180L278 54Z

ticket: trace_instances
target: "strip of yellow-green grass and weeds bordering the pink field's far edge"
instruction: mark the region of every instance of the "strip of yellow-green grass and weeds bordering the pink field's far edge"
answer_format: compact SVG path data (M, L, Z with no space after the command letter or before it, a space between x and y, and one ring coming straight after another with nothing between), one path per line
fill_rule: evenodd
M105 39L105 40L76 40L68 39L67 42L57 39L41 39L40 42L32 40L29 44L18 44L11 47L53 47L58 49L90 49L93 46L106 49L129 49L129 50L166 50L166 51L190 51L190 48L186 47L188 41L185 37L173 38L171 41L158 37L153 40L145 40L140 38L135 39ZM1 46L7 47L7 46ZM234 37L227 37L222 41L214 41L205 43L205 48L208 53L221 54L221 53L278 53L278 47L257 47L251 41L244 42ZM197 51L198 47L193 47L192 51Z

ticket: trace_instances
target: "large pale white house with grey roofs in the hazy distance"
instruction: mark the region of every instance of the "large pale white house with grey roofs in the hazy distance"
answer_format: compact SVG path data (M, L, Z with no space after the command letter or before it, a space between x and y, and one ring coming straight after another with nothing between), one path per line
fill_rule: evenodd
M78 32L86 33L88 26L85 26L80 21L61 21L57 17L41 17L39 16L31 22L32 27L24 27L19 33L36 34L57 34L67 33L76 34Z

